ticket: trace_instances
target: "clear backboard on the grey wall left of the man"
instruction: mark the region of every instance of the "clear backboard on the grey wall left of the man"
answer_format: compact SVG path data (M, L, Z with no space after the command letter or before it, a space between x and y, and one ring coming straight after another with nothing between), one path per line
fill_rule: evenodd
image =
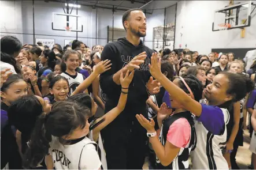
M69 27L69 31L83 32L81 19L81 16L77 16L75 14L53 12L53 22L51 22L51 29L56 31L66 31L66 27Z

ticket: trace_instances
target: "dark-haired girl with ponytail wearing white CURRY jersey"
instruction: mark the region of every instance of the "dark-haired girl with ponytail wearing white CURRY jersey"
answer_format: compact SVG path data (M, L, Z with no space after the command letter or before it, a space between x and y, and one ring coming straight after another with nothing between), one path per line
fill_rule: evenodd
M25 164L35 167L46 154L47 169L99 169L97 143L89 133L90 109L75 102L59 101L49 114L42 114L24 155Z

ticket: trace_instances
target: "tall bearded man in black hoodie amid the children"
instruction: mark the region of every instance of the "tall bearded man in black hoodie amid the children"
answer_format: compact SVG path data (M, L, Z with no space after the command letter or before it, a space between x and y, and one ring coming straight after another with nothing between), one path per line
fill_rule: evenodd
M122 87L121 73L135 70L129 85L124 111L102 130L108 169L142 169L147 149L146 130L136 114L146 115L146 100L159 92L159 83L149 71L153 50L144 46L140 37L146 36L146 17L141 9L130 9L123 15L127 36L108 43L101 60L111 60L112 69L100 75L102 92L106 95L105 113L116 107ZM123 87L127 88L127 87Z

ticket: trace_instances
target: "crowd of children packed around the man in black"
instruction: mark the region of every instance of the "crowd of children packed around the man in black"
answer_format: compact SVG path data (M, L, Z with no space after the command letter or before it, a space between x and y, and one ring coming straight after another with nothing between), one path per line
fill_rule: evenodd
M149 137L145 153L138 153L148 154L149 169L239 169L236 153L243 146L247 116L250 167L255 168L255 63L245 70L232 52L217 57L141 47L146 50L134 58L122 56L128 62L119 73L114 56L106 59L108 45L90 48L73 40L71 46L49 49L40 42L23 45L16 37L2 37L1 169L107 169L109 160L112 169L113 161L121 164L124 157L118 160L110 153L116 144L110 145L109 138L125 140L118 133L131 135L138 126L144 129L135 136ZM109 74L112 70L118 74ZM144 104L137 103L144 96L131 101L136 93L146 94ZM117 102L110 103L113 98ZM113 131L115 119L138 126L127 132L118 124L120 129ZM130 142L124 148L135 147L136 141Z

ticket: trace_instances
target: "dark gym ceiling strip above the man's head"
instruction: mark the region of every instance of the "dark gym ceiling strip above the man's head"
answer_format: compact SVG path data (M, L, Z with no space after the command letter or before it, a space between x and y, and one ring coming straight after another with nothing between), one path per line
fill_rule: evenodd
M46 1L46 0L45 0ZM66 3L66 0L52 0L55 2ZM46 1L47 2L47 1ZM152 9L161 9L164 7L169 7L175 5L178 1L161 1L157 0L125 0L125 1L77 1L80 5L92 6L92 7L103 7L112 9L113 5L115 9L128 10L131 8L139 7L141 9L152 10ZM76 1L69 0L69 3L76 3Z

